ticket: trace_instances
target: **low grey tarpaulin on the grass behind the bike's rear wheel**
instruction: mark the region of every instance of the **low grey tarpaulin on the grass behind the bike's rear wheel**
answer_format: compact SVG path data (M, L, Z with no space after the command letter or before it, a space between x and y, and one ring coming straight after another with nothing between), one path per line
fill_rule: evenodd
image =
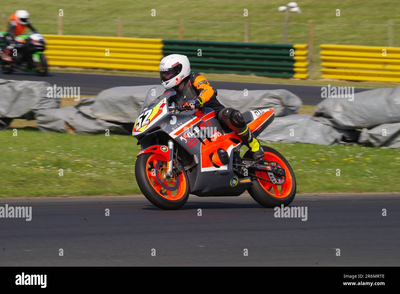
M272 142L332 145L357 137L356 131L336 129L315 121L312 115L294 114L276 117L261 133L260 139Z

